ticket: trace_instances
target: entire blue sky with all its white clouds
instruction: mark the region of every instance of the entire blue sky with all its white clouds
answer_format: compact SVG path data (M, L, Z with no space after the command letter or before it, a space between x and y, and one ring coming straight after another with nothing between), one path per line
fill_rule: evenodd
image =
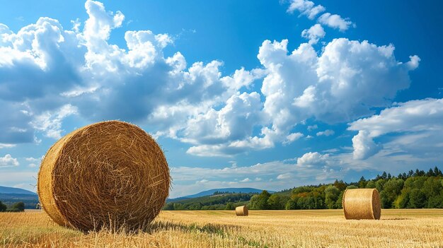
M171 197L442 166L442 4L4 1L0 185L108 119L165 150Z

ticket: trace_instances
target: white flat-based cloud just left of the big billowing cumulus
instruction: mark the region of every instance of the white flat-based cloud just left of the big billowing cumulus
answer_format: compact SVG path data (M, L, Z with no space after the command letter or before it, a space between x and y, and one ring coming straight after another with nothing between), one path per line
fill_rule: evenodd
M265 148L263 143L244 140L252 134L256 124L262 123L261 108L258 93L237 93L221 110L211 109L189 119L182 141L198 146L192 146L188 153L219 155L238 153L243 148Z

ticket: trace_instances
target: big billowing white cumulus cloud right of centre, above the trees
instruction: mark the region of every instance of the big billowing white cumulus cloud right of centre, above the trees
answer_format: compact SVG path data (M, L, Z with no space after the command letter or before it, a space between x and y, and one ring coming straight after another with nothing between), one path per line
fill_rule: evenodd
M287 40L263 42L258 54L268 72L261 89L263 112L273 120L265 137L284 140L282 134L308 117L347 122L372 114L372 107L389 106L398 90L408 88L408 71L419 60L414 56L403 64L393 49L340 38L318 56L306 43L288 54Z

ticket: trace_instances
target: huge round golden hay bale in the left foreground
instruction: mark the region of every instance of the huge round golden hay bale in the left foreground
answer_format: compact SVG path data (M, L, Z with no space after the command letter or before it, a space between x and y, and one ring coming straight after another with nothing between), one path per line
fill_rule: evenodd
M159 214L169 184L168 163L154 138L132 124L98 122L47 151L38 196L59 225L134 230Z

